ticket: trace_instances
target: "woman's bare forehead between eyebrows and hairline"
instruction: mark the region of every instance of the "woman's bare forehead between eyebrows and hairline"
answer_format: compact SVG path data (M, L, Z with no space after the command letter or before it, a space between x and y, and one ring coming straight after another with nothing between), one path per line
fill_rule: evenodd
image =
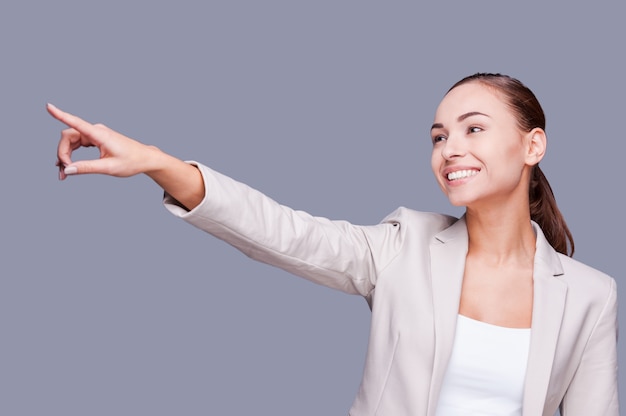
M501 95L492 87L480 82L459 85L448 92L435 112L435 120L445 122L462 114L478 111L489 116L512 116Z

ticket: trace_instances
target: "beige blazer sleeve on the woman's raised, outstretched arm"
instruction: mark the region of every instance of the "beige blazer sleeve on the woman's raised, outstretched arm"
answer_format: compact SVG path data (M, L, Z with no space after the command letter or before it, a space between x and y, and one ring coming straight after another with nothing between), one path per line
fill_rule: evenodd
M367 296L378 273L398 253L401 227L331 221L280 205L261 192L190 162L202 173L204 200L187 211L165 195L174 215L234 246L248 257L315 283Z

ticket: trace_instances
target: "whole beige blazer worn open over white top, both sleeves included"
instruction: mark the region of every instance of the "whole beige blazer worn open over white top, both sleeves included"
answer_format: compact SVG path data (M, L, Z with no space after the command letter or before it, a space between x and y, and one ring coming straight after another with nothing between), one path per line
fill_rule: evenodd
M192 162L193 163L193 162ZM372 310L352 416L434 416L468 247L464 218L399 208L374 226L284 207L198 165L205 200L166 207L256 260L365 297ZM609 276L555 252L539 227L523 415L618 415L617 301Z

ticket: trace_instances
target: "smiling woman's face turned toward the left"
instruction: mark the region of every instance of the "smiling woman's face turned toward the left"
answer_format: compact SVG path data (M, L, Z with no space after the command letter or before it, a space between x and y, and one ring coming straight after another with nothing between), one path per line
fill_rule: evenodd
M527 206L529 134L495 90L469 82L448 92L431 129L431 164L450 202L494 207L526 201Z

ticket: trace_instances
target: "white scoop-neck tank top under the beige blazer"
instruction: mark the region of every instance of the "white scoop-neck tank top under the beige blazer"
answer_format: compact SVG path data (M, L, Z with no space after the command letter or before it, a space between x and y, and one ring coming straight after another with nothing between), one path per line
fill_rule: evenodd
M459 315L437 416L521 416L530 328Z

